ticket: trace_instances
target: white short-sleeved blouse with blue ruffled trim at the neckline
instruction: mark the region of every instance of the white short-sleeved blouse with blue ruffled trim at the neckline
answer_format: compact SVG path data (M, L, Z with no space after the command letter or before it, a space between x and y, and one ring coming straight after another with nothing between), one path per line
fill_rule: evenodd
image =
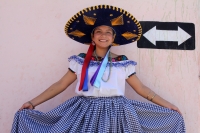
M96 88L95 86L92 86L90 82L88 82L88 91L79 91L81 70L84 58L77 55L71 56L69 58L69 69L76 73L78 80L75 92L78 95L94 97L124 96L125 79L127 79L130 75L135 74L135 65L137 64L134 61L128 60L126 56L124 57L125 60L112 62L110 78L107 82L101 80L100 88ZM98 65L98 61L90 61L88 69L89 81L97 70ZM103 75L103 79L105 80L108 78L109 75L109 67L110 63L107 64L106 70Z

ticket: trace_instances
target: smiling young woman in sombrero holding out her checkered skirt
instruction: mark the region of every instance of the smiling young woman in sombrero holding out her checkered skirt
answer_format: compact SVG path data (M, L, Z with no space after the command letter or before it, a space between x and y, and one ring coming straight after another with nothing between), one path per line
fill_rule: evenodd
M185 132L179 109L137 78L136 62L110 52L113 45L139 40L141 26L130 13L108 5L89 7L68 21L65 32L78 42L92 42L88 52L71 56L69 71L42 94L22 105L11 132ZM78 96L47 113L32 110L64 91L76 79ZM125 98L125 82L158 105Z

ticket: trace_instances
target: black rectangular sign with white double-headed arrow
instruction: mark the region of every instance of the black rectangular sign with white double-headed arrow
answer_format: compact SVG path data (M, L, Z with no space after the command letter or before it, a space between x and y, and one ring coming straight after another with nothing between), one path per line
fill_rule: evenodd
M193 23L140 21L143 35L138 48L195 49L195 26Z

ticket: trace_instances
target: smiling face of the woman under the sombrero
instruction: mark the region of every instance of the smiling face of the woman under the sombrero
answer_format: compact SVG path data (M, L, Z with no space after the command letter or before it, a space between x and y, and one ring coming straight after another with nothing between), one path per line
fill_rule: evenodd
M107 48L114 41L114 33L109 26L98 26L94 29L92 41L95 42L96 47Z

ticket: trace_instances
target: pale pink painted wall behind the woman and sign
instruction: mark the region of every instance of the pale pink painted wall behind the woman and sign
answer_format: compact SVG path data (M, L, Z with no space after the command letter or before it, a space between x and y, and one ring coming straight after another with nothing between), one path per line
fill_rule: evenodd
M64 25L79 10L112 4L131 12L139 21L192 22L196 49L138 49L136 44L112 48L138 62L144 84L177 105L188 133L200 132L200 1L199 0L1 0L0 1L0 131L10 132L21 105L59 80L68 70L68 57L84 52L66 37ZM41 104L48 111L74 95L65 92ZM126 96L147 102L127 85Z

